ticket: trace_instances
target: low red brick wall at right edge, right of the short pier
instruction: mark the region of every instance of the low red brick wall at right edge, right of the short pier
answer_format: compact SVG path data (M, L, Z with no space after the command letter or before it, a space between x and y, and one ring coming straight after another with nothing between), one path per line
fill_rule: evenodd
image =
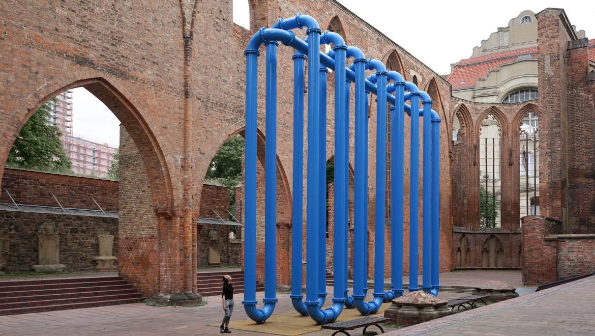
M595 235L558 236L558 279L595 272Z

